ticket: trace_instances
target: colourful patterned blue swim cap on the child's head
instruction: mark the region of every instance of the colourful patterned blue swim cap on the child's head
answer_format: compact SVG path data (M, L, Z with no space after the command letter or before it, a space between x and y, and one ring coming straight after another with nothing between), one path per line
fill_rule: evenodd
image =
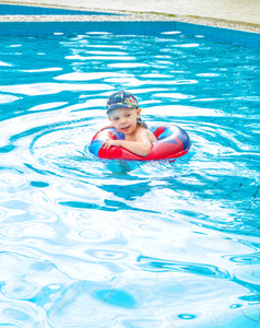
M107 99L107 114L117 108L138 108L138 101L128 91L117 91Z

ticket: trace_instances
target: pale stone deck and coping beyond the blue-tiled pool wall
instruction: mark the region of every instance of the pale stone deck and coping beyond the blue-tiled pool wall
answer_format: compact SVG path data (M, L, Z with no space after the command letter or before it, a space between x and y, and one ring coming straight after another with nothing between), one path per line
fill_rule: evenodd
M15 0L1 4L98 11L122 15L0 15L1 22L36 21L180 21L260 33L259 0Z

